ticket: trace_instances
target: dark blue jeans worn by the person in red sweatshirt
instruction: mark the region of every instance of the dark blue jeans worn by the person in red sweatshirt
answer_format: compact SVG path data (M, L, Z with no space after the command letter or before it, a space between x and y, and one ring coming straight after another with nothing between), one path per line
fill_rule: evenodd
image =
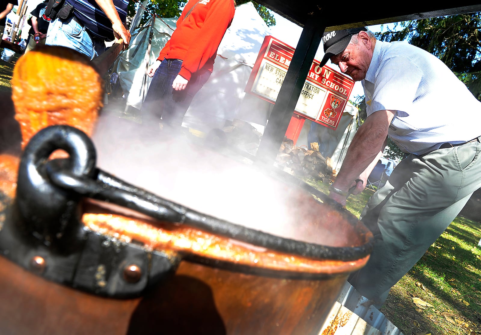
M182 61L164 59L154 73L147 96L142 105L142 124L158 129L160 118L166 126L180 127L194 95L209 79L211 72L201 70L192 74L184 90L176 91L172 83L177 77Z

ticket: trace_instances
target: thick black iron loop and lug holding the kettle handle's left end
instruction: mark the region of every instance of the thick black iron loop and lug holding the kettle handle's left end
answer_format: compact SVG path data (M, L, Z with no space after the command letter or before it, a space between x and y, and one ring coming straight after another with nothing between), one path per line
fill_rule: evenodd
M76 247L81 229L80 195L53 185L46 174L49 156L57 149L69 154L55 165L77 177L92 177L96 152L89 137L73 127L40 130L27 144L18 171L16 215L19 223L40 243L67 251Z

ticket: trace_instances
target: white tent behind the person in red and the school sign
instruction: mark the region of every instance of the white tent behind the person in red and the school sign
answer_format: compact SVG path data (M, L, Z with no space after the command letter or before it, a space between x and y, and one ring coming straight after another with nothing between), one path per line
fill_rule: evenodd
M158 57L176 28L176 22L177 18L152 18L144 26L131 28L131 45L119 55L116 66L128 106L141 108L151 82L146 69ZM257 128L262 131L273 104L244 92L244 89L264 37L270 34L269 27L252 2L237 6L232 24L217 51L214 72L190 104L184 117L184 127L208 132L223 128L228 121L240 119L260 126ZM278 38L282 40L282 37ZM329 139L323 137L322 145L332 149L328 156L332 155L339 165L357 129L356 115L357 109L348 104L335 131L318 126L319 132L332 133ZM306 120L303 132L309 129L309 125L310 121ZM304 142L307 144L307 140L302 140L302 144Z

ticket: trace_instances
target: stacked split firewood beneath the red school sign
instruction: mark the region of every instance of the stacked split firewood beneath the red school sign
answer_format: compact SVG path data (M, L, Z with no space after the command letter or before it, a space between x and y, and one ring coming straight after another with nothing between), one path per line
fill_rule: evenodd
M311 143L311 150L294 145L292 140L284 137L279 153L277 164L298 177L311 177L316 180L334 180L336 171L332 169L331 160L325 158L319 152L317 143Z

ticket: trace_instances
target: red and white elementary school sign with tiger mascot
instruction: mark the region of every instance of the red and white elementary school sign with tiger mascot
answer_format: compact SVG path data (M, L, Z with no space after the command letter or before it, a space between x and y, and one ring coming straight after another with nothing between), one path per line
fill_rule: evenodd
M245 91L275 103L292 61L294 48L266 36ZM314 60L294 109L306 118L336 129L354 81Z

